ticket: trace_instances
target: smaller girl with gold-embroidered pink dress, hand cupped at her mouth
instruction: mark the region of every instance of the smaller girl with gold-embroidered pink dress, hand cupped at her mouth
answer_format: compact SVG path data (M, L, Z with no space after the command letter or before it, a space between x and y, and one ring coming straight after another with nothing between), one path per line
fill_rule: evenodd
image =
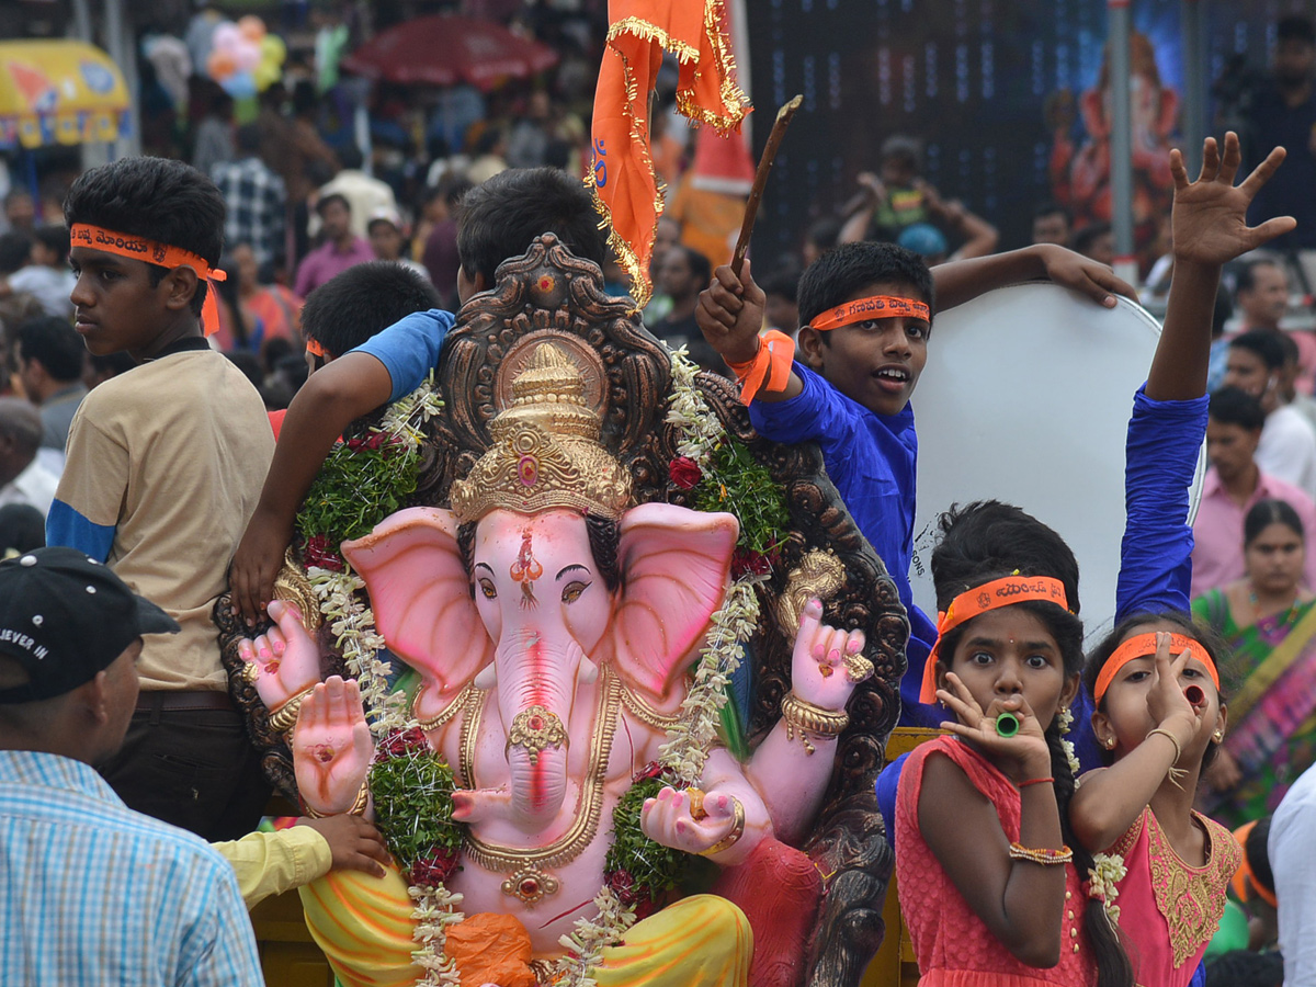
M1241 850L1192 811L1198 776L1224 740L1219 642L1187 615L1125 620L1084 680L1109 767L1083 775L1075 837L1100 850L1090 894L1117 923L1142 987L1187 987L1220 925Z

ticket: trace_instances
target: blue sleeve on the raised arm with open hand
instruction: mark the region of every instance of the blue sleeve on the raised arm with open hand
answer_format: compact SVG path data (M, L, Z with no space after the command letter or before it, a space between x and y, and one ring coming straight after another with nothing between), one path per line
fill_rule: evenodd
M1188 488L1207 434L1209 399L1154 401L1146 386L1133 397L1124 459L1124 541L1115 588L1115 620L1149 611L1188 609L1192 526Z

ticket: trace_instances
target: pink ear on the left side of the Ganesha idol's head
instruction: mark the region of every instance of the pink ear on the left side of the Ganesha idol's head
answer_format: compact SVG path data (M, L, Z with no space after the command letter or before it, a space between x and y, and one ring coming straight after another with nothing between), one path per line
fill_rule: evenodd
M438 683L432 703L446 703L492 658L450 511L399 511L345 541L342 554L366 580L388 646Z

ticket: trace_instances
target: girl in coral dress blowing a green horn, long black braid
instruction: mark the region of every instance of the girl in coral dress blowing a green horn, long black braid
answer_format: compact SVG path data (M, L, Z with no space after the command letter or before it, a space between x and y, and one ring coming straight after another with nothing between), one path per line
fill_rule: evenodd
M942 519L932 571L941 613L924 695L958 722L909 755L896 796L920 987L1128 987L1115 929L1100 909L1086 916L1091 859L1065 813L1062 730L1083 666L1074 554L1019 508L986 501Z

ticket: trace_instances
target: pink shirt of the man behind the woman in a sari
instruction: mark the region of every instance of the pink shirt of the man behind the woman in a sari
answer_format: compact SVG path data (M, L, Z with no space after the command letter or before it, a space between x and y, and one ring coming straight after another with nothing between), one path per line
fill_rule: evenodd
M1303 522L1307 542L1307 586L1316 587L1316 551L1312 534L1316 533L1316 504L1292 483L1261 474L1257 490L1240 507L1220 483L1220 474L1212 466L1202 486L1198 519L1192 522L1192 596L1242 579L1246 570L1242 559L1242 522L1259 500L1283 500Z

